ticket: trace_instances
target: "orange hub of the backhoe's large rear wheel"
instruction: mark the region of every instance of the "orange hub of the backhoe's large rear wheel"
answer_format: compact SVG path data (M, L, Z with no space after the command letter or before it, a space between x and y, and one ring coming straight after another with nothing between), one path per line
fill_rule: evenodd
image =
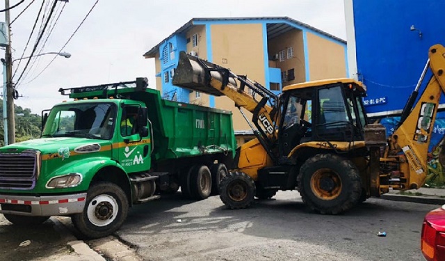
M321 200L333 200L341 193L341 178L330 168L321 168L311 177L311 189Z

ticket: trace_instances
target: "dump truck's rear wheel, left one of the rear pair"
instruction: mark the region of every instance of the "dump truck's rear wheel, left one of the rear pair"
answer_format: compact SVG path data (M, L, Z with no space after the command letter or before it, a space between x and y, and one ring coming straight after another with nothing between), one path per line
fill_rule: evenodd
M209 198L211 191L211 173L207 166L197 165L190 172L191 196L197 200Z

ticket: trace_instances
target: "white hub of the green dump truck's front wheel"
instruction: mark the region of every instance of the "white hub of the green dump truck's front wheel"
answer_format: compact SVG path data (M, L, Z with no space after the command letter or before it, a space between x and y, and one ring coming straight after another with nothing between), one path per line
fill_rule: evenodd
M116 219L119 211L118 202L110 195L102 194L88 204L88 220L95 226L107 226Z

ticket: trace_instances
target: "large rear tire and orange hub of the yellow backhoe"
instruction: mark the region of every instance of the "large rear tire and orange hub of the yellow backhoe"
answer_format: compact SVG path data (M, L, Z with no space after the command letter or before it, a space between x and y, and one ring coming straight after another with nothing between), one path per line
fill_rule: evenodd
M303 203L310 209L321 214L339 214L357 205L362 180L350 160L319 154L301 166L298 188Z

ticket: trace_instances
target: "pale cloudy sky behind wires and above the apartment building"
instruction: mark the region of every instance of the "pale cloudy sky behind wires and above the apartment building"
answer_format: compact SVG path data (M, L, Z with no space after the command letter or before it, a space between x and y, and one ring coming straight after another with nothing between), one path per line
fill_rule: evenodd
M43 10L46 8L47 14L53 1L44 1ZM18 2L10 0L10 6ZM13 8L11 21L29 3L31 0L26 0ZM95 0L66 3L40 53L59 52L94 3ZM55 18L63 5L64 2L59 0L54 9ZM22 57L40 6L42 0L35 0L11 25L13 60ZM4 8L4 2L0 8ZM2 22L5 21L4 14L0 13ZM14 61L13 72L17 72L13 81L17 81L24 71L17 84L22 97L15 100L15 104L40 114L43 109L51 109L54 104L68 100L67 96L58 93L59 88L133 81L136 77L147 77L149 86L155 88L154 59L145 59L143 54L192 18L284 16L346 40L343 0L99 0L72 40L61 50L72 54L70 58L54 54L38 56L31 59L25 71L26 59ZM23 57L31 55L41 24L39 19ZM54 24L54 20L49 24ZM42 42L43 39L40 45ZM4 56L4 51L0 52L0 56ZM47 67L54 56L57 58Z

